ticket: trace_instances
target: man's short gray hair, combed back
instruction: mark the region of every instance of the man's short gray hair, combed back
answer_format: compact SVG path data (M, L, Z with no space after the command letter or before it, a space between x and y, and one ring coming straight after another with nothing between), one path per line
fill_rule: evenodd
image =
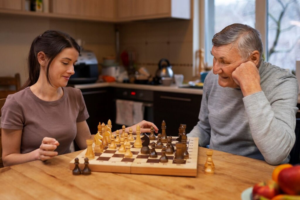
M225 44L236 45L242 58L247 59L251 52L259 51L262 58L263 46L258 30L244 24L232 24L223 28L212 39L214 46Z

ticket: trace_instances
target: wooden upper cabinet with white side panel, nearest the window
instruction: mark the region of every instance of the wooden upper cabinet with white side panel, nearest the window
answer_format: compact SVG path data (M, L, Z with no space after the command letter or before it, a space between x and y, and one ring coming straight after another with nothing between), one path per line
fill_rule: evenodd
M117 0L117 20L190 19L190 0Z

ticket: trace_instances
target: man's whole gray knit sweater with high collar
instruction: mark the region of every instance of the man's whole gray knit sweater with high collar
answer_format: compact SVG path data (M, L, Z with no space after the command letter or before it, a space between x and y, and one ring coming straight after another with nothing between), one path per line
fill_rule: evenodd
M294 75L261 61L261 92L243 97L239 88L223 88L218 75L206 76L199 122L188 137L199 146L265 160L289 162L295 143L298 84Z

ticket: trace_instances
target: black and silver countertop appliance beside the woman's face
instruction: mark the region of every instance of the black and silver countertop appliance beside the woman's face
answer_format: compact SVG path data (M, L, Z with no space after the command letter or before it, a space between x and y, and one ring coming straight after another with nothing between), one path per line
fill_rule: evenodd
M94 83L98 79L98 61L91 51L81 50L77 64L74 65L75 73L70 77L68 84Z

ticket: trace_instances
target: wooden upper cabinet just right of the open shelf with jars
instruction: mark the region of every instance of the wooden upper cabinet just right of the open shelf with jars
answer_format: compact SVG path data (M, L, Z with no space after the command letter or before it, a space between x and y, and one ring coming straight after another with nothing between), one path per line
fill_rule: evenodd
M52 0L54 14L70 18L115 21L116 0Z

